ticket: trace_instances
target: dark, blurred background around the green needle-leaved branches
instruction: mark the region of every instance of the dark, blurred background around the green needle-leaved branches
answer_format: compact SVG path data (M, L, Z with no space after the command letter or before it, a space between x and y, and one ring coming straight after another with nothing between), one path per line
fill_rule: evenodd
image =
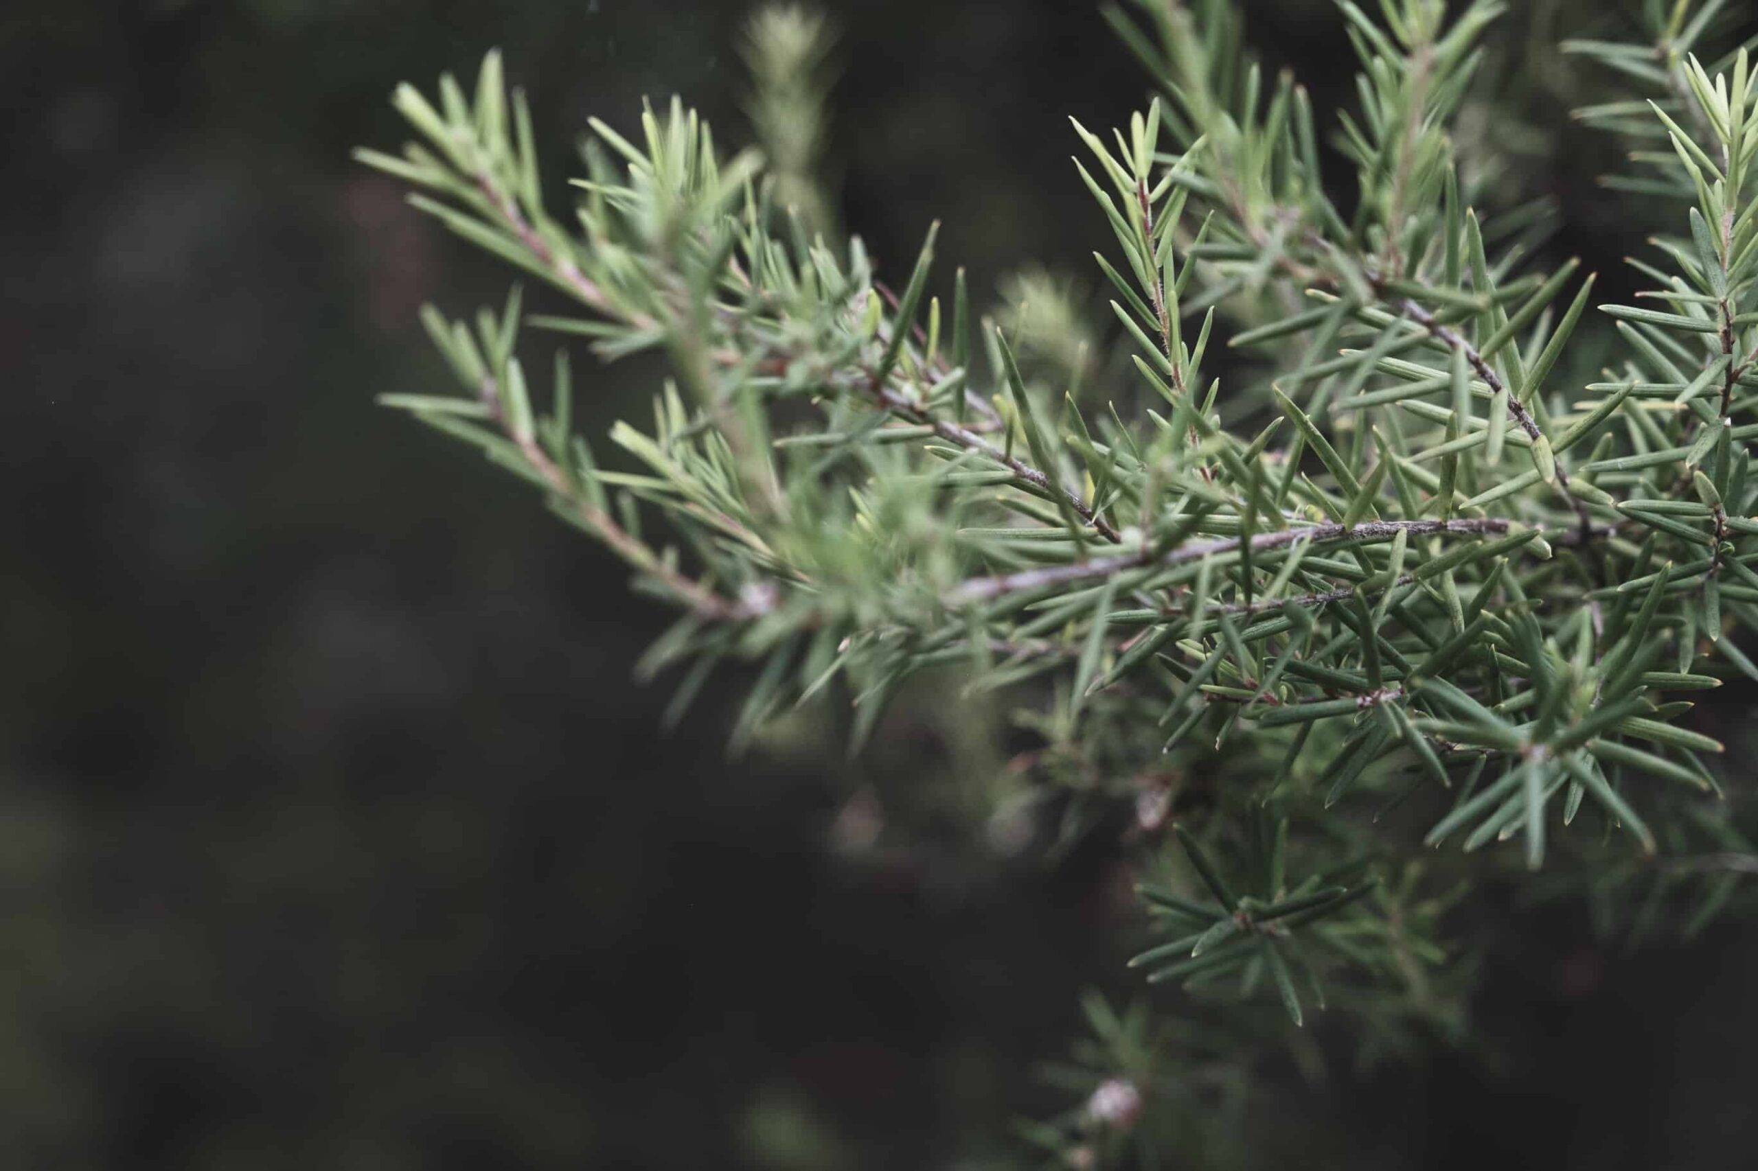
M1062 120L1143 95L1088 5L826 7L842 211L875 253L941 216L977 288L1028 258L1085 276L1104 225ZM1334 12L1260 7L1324 109ZM438 385L424 299L505 294L348 164L401 141L392 84L505 47L554 179L589 113L628 125L643 93L742 139L745 12L4 5L9 1166L1027 1166L1009 1120L1064 1104L1032 1062L1079 988L1129 986L1106 863L997 860L926 814L872 847L865 795L946 758L907 717L861 763L809 735L735 761L730 680L663 731L631 666L666 615L371 403ZM1610 267L1635 243L1586 149L1531 167ZM594 375L587 429L652 373ZM1507 914L1477 1043L1271 1076L1252 1162L1749 1167L1740 925L1626 955L1579 907Z

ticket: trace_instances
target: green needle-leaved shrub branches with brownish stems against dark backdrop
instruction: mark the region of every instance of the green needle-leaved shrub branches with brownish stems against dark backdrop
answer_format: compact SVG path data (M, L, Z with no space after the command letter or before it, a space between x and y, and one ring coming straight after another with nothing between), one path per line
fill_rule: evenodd
M1651 0L1642 40L1565 46L1623 86L1579 113L1638 144L1609 188L1670 223L1633 262L1638 304L1598 313L1595 276L1542 267L1542 216L1500 206L1450 134L1500 4L1343 0L1361 74L1329 135L1234 5L1109 9L1159 91L1118 130L1074 125L1115 236L1109 364L1053 278L1016 281L997 325L962 273L949 306L930 294L935 232L897 287L837 241L795 81L823 60L812 18L752 25L779 172L723 158L675 100L628 135L594 120L573 227L490 55L473 97L401 88L418 141L360 158L575 313L429 309L464 394L390 404L677 607L647 668L686 665L679 710L752 663L735 744L839 698L860 746L926 670L1006 689L1035 705L1072 832L1125 802L1176 823L1141 888L1150 981L1301 1023L1368 979L1364 1018L1443 1025L1436 891L1498 865L1463 855L1517 840L1535 890L1561 874L1612 907L1660 874L1653 914L1688 925L1749 870L1712 862L1749 847L1679 698L1758 679L1758 84L1744 47L1698 56L1725 7ZM666 355L650 425L610 433L624 469L573 434L564 357L536 392L526 324ZM1104 1076L1148 1092L1146 1025L1093 1013ZM1125 1099L1106 1125L1134 1125ZM1081 1118L1034 1136L1088 1150Z

